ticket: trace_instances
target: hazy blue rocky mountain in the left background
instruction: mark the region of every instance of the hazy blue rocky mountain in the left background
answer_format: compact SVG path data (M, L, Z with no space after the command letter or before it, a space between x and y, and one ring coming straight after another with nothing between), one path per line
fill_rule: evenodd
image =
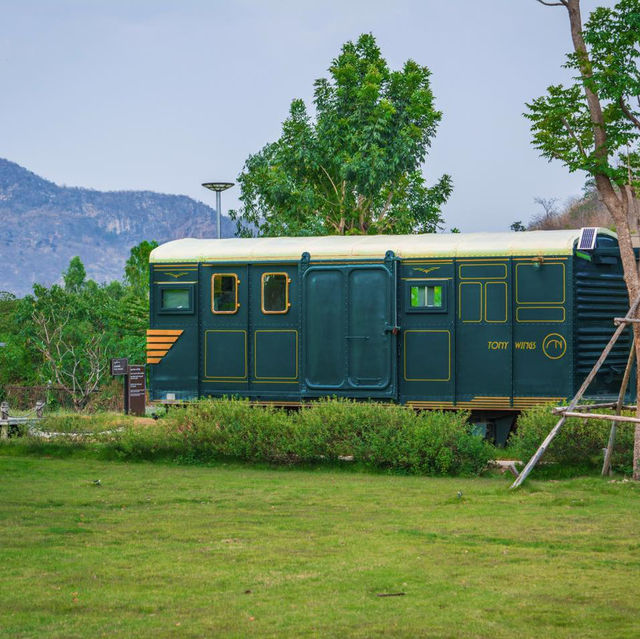
M222 236L235 226L222 218ZM216 213L185 195L58 186L0 158L0 291L24 295L58 280L79 255L88 277L120 279L142 240L216 237Z

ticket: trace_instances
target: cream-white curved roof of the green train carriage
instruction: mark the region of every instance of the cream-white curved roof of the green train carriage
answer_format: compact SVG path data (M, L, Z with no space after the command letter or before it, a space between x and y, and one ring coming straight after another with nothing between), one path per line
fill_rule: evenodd
M608 229L599 235L616 237ZM297 261L319 259L571 255L580 229L519 233L429 233L424 235L330 235L207 240L185 238L155 248L151 263Z

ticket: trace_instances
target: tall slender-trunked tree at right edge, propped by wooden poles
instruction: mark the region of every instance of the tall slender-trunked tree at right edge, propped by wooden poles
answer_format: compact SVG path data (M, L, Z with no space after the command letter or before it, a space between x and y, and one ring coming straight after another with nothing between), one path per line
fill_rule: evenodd
M640 184L640 0L596 9L584 29L580 0L538 2L567 10L573 52L565 66L576 76L570 86L550 86L546 95L527 104L534 145L549 160L559 159L570 171L593 177L616 225L629 299L635 300L640 277L629 218ZM638 356L640 325L634 324L633 331ZM640 480L640 426L633 476Z

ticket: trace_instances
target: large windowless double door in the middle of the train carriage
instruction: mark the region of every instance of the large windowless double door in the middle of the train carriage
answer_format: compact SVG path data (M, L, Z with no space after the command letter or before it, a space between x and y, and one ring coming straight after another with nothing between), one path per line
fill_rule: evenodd
M395 265L303 264L303 390L395 397Z

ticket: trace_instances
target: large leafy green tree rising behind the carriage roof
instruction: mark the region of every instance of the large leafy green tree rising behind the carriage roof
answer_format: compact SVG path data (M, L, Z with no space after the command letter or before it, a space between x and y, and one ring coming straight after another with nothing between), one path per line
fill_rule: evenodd
M421 172L441 114L427 67L391 71L371 34L347 42L316 80L315 119L291 103L282 135L249 156L238 181L240 235L435 231L448 175Z

